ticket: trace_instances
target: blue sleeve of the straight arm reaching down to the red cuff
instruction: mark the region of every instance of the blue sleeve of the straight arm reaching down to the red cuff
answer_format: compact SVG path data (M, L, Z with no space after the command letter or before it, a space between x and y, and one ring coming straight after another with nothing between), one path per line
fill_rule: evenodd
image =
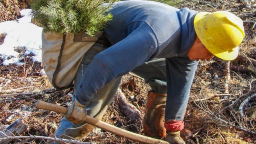
M186 57L166 58L165 120L183 120L198 62Z

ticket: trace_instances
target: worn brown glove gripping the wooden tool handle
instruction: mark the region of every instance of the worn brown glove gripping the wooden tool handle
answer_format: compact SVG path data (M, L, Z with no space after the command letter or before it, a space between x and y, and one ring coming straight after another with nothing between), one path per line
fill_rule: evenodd
M68 112L64 116L73 124L80 124L84 122L86 115L86 106L80 104L78 100L75 99L72 102L72 105L68 108Z

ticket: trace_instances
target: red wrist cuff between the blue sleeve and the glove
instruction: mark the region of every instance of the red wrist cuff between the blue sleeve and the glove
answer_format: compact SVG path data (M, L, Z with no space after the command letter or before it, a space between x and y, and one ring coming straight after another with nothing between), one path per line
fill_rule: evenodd
M184 129L184 122L181 120L167 120L164 123L164 127L166 128L166 132L174 132L178 130Z

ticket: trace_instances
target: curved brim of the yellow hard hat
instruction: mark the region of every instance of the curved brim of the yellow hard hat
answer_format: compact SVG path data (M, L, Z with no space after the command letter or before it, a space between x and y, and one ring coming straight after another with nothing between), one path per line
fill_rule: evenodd
M199 12L196 14L194 18L194 28L196 31L196 35L198 36L199 40L202 44L209 50L214 56L222 59L222 60L234 60L238 56L239 47L233 48L232 51L226 51L220 47L215 46L214 44L210 44L204 38L206 29L205 29L205 22L201 20L205 16L210 14L210 12Z

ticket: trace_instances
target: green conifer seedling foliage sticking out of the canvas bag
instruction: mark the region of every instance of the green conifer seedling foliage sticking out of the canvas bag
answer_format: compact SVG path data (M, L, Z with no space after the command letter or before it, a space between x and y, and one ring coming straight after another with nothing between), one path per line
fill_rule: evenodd
M111 5L102 0L33 0L32 15L44 32L79 33L93 36L103 30L112 14L108 13Z

